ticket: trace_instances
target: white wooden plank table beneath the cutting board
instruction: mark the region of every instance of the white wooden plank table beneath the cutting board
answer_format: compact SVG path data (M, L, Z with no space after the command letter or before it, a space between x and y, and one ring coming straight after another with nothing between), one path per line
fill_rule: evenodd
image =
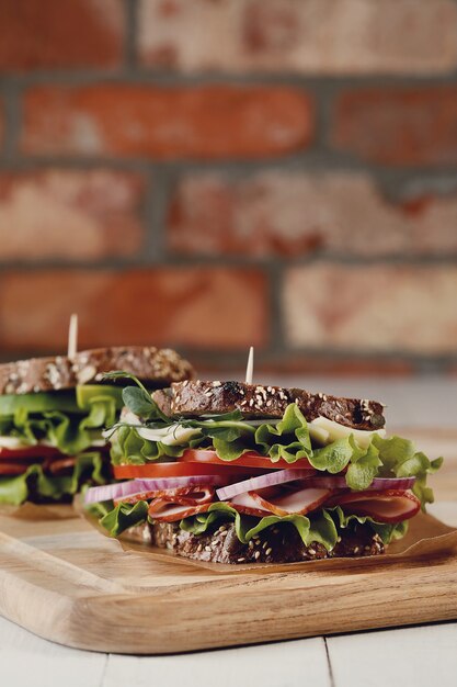
M315 390L386 401L390 427L439 425L457 428L457 380L325 382L308 379L302 384ZM453 498L454 494L444 488L442 500L431 511L457 526ZM456 687L457 622L194 654L137 657L59 646L0 618L0 685Z

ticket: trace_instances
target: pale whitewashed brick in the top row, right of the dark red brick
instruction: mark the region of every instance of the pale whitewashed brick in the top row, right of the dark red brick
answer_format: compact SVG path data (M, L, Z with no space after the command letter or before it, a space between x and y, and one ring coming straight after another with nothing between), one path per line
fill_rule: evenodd
M453 0L141 0L146 65L182 71L433 74L457 65Z

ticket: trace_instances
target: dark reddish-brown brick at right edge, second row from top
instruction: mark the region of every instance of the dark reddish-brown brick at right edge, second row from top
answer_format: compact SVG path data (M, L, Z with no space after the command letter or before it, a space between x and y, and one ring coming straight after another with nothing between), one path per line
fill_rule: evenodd
M364 89L335 105L332 143L381 165L457 164L457 88Z

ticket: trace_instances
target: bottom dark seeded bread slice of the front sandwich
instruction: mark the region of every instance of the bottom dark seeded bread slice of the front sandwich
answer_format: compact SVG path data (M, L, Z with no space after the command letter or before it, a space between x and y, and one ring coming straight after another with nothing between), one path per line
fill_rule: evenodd
M341 540L330 552L319 542L305 545L289 522L264 529L248 544L240 542L232 522L221 525L209 534L198 536L182 530L178 522L152 522L130 528L125 536L172 550L176 555L208 563L295 563L379 555L385 552L379 534L367 525L343 530Z

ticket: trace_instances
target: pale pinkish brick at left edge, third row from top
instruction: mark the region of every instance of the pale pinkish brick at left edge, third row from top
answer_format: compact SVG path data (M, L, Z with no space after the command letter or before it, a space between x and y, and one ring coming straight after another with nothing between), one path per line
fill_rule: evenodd
M0 173L0 260L98 259L141 247L145 184L104 169Z

